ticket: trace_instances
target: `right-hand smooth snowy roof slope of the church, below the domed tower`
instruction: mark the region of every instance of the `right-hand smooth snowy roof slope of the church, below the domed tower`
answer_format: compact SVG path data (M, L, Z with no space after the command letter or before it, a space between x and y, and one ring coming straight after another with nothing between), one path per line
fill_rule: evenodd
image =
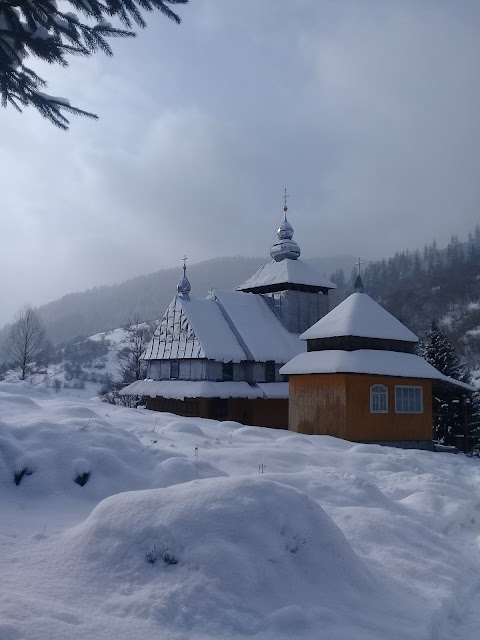
M285 329L263 296L218 290L212 295L249 356L248 360L284 363L305 350L298 335Z

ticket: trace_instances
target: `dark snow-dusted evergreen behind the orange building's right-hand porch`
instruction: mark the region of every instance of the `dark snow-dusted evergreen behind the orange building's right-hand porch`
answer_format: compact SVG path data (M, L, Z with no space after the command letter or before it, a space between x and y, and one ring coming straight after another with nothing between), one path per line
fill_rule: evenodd
M461 364L455 348L436 322L430 323L426 341L421 346L420 353L443 375L462 382L470 382L469 372ZM463 435L465 432L464 411L465 405L462 397L459 398L458 395L449 393L439 393L434 396L434 432L440 442L446 445L457 444L456 436ZM471 414L471 411L469 413Z

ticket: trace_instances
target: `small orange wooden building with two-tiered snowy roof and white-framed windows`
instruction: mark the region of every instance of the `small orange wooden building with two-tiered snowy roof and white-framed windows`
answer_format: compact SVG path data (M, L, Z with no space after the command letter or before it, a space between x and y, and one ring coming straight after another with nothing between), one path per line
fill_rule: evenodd
M306 352L288 362L289 428L356 442L433 448L432 393L470 385L415 355L418 338L363 292L300 337Z

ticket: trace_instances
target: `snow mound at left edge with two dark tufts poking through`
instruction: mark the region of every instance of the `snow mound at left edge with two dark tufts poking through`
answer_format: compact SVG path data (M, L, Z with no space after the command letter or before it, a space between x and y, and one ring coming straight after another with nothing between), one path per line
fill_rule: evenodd
M30 386L24 391L35 396ZM0 485L15 500L68 496L98 501L119 491L145 489L152 486L155 468L172 456L146 449L134 434L106 423L93 407L68 403L60 414L47 414L44 401L8 394L5 388L0 385L5 417Z

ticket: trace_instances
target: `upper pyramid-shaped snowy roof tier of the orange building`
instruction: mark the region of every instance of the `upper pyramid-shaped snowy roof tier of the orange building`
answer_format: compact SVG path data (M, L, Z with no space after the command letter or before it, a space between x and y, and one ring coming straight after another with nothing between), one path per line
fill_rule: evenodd
M417 336L366 293L352 293L300 336L301 340L357 336L418 342Z

